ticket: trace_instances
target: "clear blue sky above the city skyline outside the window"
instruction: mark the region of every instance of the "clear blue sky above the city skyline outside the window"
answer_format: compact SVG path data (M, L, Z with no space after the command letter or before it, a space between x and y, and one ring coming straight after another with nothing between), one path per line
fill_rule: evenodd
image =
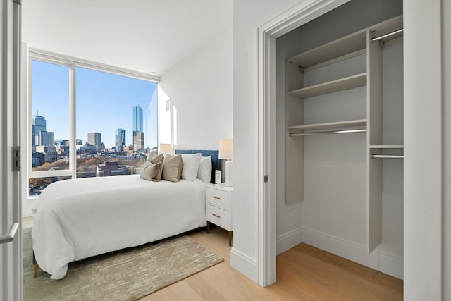
M77 138L85 144L87 133L99 132L111 148L116 128L124 128L127 145L131 145L132 108L141 106L145 147L156 146L156 87L154 82L77 67ZM32 115L37 113L46 118L47 131L55 133L55 140L69 138L68 67L32 61Z

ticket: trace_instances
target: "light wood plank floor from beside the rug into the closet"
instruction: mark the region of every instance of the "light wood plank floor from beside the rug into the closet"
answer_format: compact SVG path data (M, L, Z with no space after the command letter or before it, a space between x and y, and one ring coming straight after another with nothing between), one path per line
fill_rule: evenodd
M230 267L228 233L213 228L190 237L224 258L149 300L402 300L402 281L304 243L277 257L277 281L267 288Z

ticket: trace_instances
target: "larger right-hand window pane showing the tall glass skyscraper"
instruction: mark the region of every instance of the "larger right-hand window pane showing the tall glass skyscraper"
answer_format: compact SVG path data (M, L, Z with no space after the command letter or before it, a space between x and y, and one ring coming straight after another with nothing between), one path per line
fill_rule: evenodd
M76 68L77 178L133 174L156 149L156 83Z

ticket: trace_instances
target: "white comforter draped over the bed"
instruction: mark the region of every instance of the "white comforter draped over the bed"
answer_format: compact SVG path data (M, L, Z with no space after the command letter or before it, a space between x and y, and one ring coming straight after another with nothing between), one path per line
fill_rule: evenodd
M52 279L68 263L205 226L205 184L110 176L62 180L33 204L32 242Z

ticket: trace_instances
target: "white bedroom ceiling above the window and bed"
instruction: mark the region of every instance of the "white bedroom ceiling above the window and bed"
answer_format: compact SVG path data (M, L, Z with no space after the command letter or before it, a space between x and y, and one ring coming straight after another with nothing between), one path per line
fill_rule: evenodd
M29 47L162 75L232 27L232 0L23 0Z

